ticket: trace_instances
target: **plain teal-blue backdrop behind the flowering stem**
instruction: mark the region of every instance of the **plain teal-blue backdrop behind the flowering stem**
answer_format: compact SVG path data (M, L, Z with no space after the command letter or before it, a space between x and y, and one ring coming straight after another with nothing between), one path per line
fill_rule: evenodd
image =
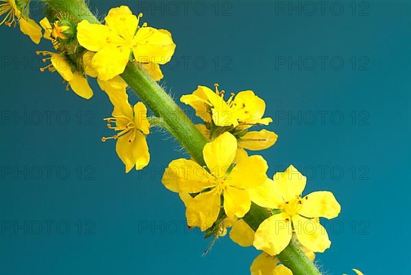
M297 1L300 11L282 10L288 1L121 3L173 34L162 85L175 99L219 82L266 101L279 135L262 152L269 176L292 163L308 176L307 192L331 190L343 206L324 221L324 272L405 274L409 1L357 1L355 10L343 1L340 15L333 1L325 10L311 2L314 14ZM112 5L98 1L99 14ZM37 46L5 26L1 40L0 274L249 274L256 250L225 237L201 257L209 240L186 231L182 202L160 183L182 154L169 134L154 130L150 165L125 174L114 142L100 141L111 134L102 119L112 107L96 83L90 101L65 92L57 73L38 71L34 51L50 49L47 41Z

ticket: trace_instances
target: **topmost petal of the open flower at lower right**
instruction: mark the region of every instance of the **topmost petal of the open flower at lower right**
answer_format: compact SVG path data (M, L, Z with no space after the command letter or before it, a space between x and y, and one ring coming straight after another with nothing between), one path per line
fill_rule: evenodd
M306 176L303 176L294 166L289 166L285 172L277 172L274 175L274 184L284 200L290 200L300 196L306 187Z

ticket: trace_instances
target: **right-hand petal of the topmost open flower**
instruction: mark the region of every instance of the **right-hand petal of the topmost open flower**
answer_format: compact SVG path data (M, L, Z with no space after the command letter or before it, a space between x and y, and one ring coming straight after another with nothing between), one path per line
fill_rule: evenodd
M175 44L169 31L141 27L134 36L134 58L137 62L147 58L157 64L166 64L174 54ZM145 63L145 62L143 62Z

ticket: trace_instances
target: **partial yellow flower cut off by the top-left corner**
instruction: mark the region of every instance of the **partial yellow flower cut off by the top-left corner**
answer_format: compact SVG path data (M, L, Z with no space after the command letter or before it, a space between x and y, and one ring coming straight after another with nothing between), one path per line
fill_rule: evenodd
M18 21L18 25L20 25L21 32L29 36L34 43L38 44L42 37L41 27L33 19L25 15L23 16L21 10L16 5L16 1L0 1L5 2L0 4L0 16L5 14L3 21L0 22L0 25L3 25L4 23L4 25L10 27L11 25L16 25L16 21Z

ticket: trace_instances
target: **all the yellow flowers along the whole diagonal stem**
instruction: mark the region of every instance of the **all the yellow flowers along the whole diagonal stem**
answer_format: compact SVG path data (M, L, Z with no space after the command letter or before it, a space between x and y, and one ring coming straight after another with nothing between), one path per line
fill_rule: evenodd
M146 137L151 127L147 107L142 102L129 103L122 75L132 64L145 76L160 81L164 77L160 65L169 62L175 51L170 32L140 24L142 14L136 16L122 5L108 12L104 24L64 12L49 15L40 21L43 34L29 18L29 1L1 1L0 15L5 17L0 25L18 23L37 44L42 37L51 42L53 51L37 52L49 62L42 71L57 71L67 82L66 90L71 88L84 99L93 95L89 80L97 79L113 105L111 116L104 121L115 134L102 137L102 141L116 140L116 153L125 172L147 166ZM236 244L262 251L251 264L251 275L290 275L292 270L280 260L282 252L292 241L300 254L314 261L314 252L324 252L331 245L321 219L336 218L341 207L332 192L303 195L306 176L294 166L270 179L266 160L246 151L264 150L277 141L273 131L251 131L251 127L265 127L273 121L264 118L266 103L251 90L231 93L225 99L225 91L220 91L218 84L214 88L198 86L192 94L181 97L180 101L194 108L203 120L196 125L198 131L194 125L192 130L201 138L202 133L207 143L201 145L203 159L171 161L162 183L184 202L189 228L197 227L214 240L229 231ZM267 214L257 226L247 220L253 205Z

